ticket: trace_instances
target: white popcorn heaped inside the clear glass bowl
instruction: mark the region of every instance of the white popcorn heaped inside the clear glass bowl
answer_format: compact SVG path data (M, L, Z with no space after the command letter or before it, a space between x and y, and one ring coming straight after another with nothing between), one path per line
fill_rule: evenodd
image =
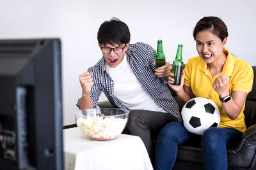
M122 133L126 122L127 118L86 117L78 118L76 123L88 138L109 140Z

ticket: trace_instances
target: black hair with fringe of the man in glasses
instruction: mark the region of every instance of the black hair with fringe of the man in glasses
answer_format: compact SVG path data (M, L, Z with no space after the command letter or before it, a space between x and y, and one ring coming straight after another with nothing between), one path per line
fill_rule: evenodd
M100 25L98 41L100 45L122 45L130 42L129 27L118 18L111 18Z

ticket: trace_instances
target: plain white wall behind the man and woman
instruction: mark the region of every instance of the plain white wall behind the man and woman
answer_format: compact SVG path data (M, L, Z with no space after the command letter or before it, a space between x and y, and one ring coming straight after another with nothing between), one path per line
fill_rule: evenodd
M97 31L111 17L123 20L131 31L131 43L143 41L156 48L163 39L166 60L172 62L177 45L183 59L197 55L193 28L200 18L216 16L228 27L226 48L252 65L256 39L254 0L0 0L0 39L61 38L63 124L74 124L78 76L100 59ZM100 100L106 99L104 96Z

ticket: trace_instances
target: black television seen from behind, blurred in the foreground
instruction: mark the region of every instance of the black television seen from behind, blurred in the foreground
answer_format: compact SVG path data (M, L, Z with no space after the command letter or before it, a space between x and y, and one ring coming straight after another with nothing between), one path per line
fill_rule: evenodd
M63 169L61 41L0 40L0 169Z

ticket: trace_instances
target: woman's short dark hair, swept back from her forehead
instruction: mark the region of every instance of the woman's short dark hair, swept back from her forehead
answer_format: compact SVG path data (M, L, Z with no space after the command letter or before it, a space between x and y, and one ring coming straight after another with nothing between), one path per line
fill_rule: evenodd
M218 17L204 17L200 19L195 26L193 36L196 40L196 34L200 31L211 31L213 34L216 34L218 38L223 41L228 37L228 28L226 24Z

